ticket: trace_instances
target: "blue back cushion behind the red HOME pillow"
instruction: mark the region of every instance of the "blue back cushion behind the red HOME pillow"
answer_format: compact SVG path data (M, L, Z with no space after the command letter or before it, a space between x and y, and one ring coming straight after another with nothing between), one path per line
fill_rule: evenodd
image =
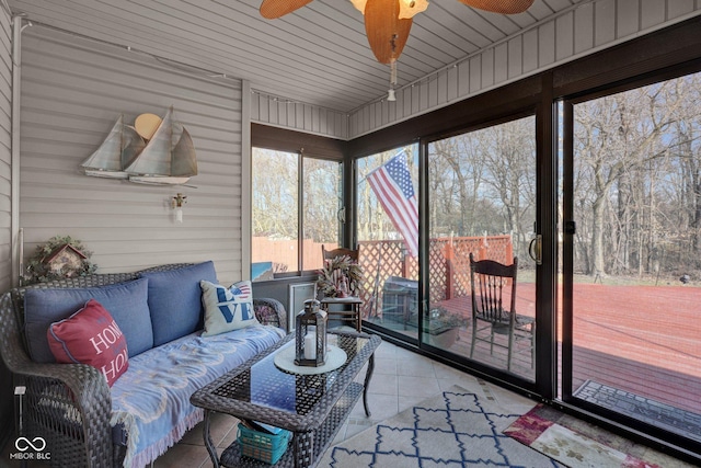
M127 339L129 356L153 347L151 316L147 303L148 279L101 287L27 289L24 294L25 333L30 356L37 363L54 363L46 339L53 322L66 319L95 299L112 315Z

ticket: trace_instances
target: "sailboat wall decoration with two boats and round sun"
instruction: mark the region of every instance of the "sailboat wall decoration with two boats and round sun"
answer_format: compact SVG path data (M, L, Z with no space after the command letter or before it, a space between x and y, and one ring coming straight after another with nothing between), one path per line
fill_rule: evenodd
M114 136L117 133L119 138ZM140 148L131 141L134 137L141 141ZM120 145L118 148L117 141ZM94 158L96 153L108 153L110 157L97 160ZM115 159L114 155L119 158ZM119 118L105 141L81 165L87 175L158 185L182 185L197 175L195 146L189 133L173 118L172 106L148 142L137 134L137 129L124 125Z

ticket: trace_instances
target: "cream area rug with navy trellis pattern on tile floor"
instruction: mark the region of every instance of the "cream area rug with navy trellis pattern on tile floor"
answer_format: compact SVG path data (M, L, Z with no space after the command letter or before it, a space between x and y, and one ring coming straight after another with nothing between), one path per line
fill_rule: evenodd
M520 414L458 386L331 447L320 467L561 467L502 434Z

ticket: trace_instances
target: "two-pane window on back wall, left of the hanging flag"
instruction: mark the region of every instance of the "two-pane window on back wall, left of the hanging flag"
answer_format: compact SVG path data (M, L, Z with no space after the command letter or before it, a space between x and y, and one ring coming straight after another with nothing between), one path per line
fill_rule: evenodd
M253 148L253 281L321 267L321 244L338 246L342 164Z

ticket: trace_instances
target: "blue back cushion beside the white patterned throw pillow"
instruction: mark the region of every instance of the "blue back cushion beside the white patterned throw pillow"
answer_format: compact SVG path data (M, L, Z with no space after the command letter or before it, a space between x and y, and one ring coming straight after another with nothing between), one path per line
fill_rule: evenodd
M198 263L177 270L141 273L149 281L149 309L153 328L153 345L185 336L203 327L199 282L217 283L214 262Z

